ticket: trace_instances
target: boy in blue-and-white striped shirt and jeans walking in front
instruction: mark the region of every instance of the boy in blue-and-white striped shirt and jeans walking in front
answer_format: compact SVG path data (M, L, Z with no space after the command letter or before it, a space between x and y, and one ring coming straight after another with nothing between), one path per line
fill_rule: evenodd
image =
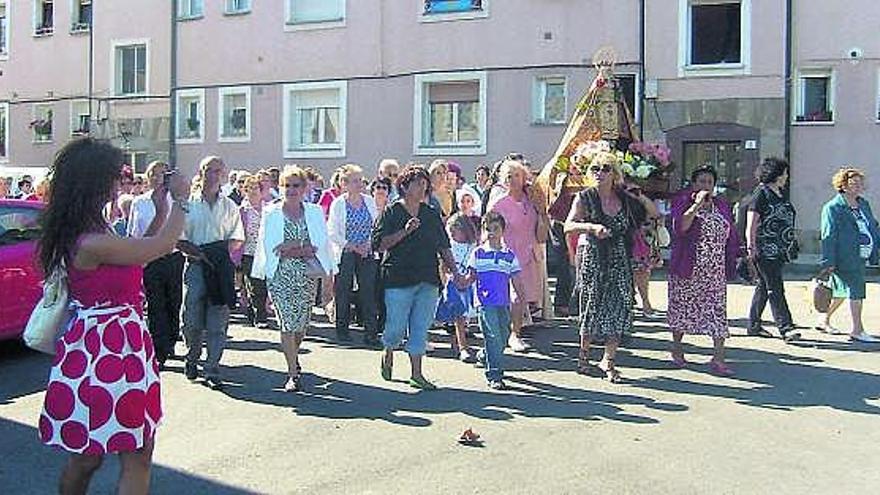
M486 241L471 253L468 259L468 279L476 280L477 309L485 350L482 353L489 387L504 390L504 369L501 359L510 333L510 286L517 295L525 294L519 278L520 265L504 245L507 223L497 212L483 217Z

